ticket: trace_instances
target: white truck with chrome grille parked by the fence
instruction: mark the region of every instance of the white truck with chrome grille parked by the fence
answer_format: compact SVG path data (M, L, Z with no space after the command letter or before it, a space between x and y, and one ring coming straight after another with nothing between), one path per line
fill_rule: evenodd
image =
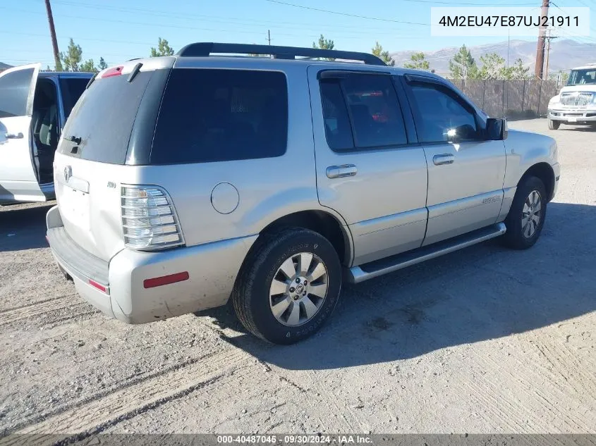
M561 124L596 125L596 63L573 68L569 80L548 105L549 129Z

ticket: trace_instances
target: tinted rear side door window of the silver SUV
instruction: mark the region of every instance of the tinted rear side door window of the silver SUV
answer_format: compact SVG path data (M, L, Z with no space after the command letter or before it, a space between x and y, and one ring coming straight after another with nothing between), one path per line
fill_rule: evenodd
M332 150L368 149L408 142L389 76L355 74L322 80L320 87L325 135Z

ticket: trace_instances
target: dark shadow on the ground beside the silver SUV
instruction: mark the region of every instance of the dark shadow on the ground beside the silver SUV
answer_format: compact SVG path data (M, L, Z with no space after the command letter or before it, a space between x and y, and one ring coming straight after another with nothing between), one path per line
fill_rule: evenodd
M332 369L419 357L506 337L596 310L596 206L551 203L540 240L498 240L343 287L327 326L284 347L249 335L229 307L207 311L224 338L287 369ZM223 333L229 333L224 330Z

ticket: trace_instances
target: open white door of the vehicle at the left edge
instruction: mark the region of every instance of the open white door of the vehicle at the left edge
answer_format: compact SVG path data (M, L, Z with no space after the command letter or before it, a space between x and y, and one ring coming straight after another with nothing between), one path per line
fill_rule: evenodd
M39 63L0 73L0 202L44 202L31 151Z

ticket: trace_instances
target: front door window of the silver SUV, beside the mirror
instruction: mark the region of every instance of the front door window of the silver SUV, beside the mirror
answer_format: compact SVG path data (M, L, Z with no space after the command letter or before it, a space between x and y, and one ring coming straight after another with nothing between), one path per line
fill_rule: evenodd
M449 130L460 140L480 138L474 111L455 92L434 83L415 82L410 87L420 142L446 142Z

